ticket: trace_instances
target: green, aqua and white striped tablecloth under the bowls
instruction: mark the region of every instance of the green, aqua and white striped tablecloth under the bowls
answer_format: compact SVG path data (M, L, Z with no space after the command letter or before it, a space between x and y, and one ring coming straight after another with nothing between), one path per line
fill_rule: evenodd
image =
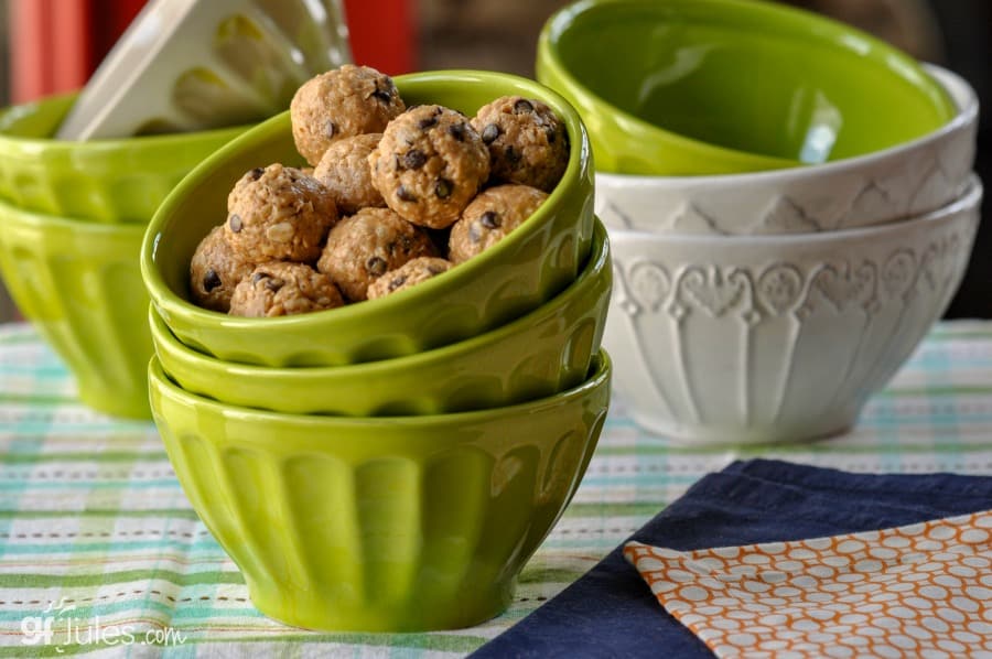
M411 635L312 634L265 618L190 508L154 425L89 411L29 325L0 325L0 653L463 656L700 476L755 454L856 472L992 474L992 322L938 325L854 432L832 441L675 449L614 401L585 479L510 609L471 629ZM37 645L24 645L24 629Z

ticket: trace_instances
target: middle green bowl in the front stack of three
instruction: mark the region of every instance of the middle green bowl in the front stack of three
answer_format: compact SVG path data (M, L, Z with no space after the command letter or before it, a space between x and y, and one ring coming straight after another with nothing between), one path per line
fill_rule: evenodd
M441 414L535 400L582 382L600 350L612 282L599 225L575 282L526 316L435 350L352 366L231 364L176 341L153 306L149 317L162 368L191 393L295 414Z

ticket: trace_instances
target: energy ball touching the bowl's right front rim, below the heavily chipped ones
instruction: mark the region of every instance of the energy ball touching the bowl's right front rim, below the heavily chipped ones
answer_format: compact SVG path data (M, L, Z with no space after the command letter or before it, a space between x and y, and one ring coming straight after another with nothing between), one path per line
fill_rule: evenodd
M451 227L448 258L467 261L493 247L544 203L548 195L529 185L499 185L475 197Z

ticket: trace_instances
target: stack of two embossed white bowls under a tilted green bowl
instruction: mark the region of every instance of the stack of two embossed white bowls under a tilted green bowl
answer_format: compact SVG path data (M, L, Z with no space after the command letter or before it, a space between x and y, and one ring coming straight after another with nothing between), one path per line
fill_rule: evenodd
M614 294L604 345L644 428L676 441L801 441L851 428L942 315L982 187L978 99L940 130L822 165L600 173Z

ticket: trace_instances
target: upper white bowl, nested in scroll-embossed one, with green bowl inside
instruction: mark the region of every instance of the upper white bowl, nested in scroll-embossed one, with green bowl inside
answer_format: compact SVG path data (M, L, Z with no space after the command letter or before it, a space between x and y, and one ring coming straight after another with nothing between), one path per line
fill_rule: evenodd
M916 217L964 190L974 163L979 101L960 76L927 69L958 106L940 130L822 165L721 176L596 174L596 214L611 228L654 234L830 231Z

